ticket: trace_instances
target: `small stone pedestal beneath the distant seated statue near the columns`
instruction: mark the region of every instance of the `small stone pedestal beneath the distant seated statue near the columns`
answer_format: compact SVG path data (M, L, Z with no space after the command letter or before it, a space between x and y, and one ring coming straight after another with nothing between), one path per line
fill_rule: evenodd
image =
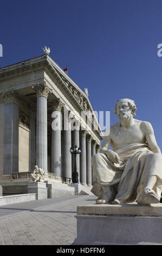
M48 198L46 182L33 182L28 185L28 193L36 193L36 200Z

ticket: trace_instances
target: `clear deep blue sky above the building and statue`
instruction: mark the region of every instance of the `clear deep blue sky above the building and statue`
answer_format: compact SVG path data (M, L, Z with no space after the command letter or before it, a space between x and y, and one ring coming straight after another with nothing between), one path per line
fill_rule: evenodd
M40 56L42 47L69 76L88 88L95 111L111 111L118 99L137 105L162 150L162 1L1 1L0 66Z

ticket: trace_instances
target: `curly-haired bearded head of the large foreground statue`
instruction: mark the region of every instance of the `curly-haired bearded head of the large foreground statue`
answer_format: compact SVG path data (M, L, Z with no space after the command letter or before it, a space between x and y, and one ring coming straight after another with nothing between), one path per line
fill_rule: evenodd
M133 100L121 99L116 103L113 113L117 115L119 121L122 121L136 115L135 111L137 111L137 108Z

